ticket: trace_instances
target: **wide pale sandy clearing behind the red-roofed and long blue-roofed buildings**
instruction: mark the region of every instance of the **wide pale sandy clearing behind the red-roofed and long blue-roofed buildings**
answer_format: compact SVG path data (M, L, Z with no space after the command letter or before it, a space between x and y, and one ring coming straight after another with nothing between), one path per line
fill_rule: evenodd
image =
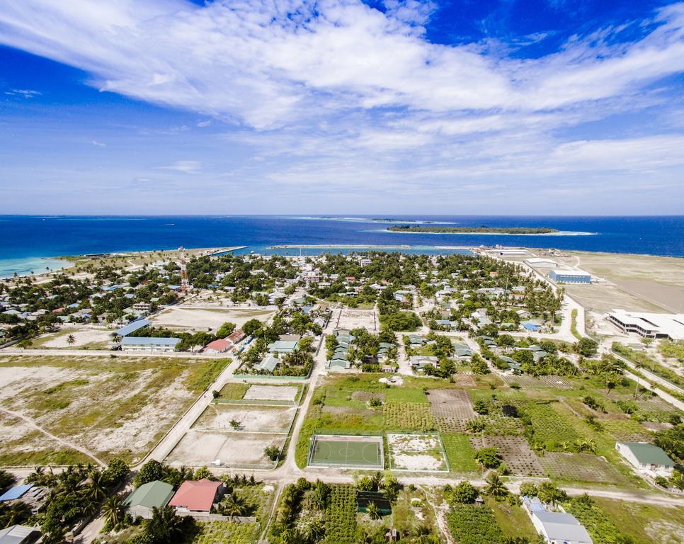
M218 329L225 322L236 324L237 327L249 321L259 319L265 322L273 315L273 310L244 310L229 308L198 308L172 306L161 310L152 317L154 327L171 327L177 329Z

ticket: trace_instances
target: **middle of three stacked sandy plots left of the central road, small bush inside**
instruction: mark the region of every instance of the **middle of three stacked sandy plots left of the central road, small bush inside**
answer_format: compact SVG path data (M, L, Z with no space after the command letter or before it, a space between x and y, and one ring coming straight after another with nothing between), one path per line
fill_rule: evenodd
M193 429L287 433L296 413L295 407L211 404L205 409Z

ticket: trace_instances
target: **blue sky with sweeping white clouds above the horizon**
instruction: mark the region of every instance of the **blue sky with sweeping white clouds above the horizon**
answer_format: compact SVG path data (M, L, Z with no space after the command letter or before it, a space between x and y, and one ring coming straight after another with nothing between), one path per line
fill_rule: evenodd
M0 213L684 212L681 2L2 4Z

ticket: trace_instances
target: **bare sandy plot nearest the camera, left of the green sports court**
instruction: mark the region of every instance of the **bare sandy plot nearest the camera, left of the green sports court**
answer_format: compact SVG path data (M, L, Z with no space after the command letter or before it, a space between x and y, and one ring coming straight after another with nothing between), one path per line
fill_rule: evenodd
M165 459L174 466L206 467L215 460L236 468L272 468L264 455L269 446L283 448L285 434L222 433L190 429Z

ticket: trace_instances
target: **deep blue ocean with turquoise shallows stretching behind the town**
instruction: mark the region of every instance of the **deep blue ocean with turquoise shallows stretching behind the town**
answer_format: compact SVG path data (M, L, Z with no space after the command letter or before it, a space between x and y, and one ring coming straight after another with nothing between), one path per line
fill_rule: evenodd
M434 222L461 227L552 227L566 236L497 234L402 234L384 232L388 223L372 219ZM57 266L45 257L175 249L178 246L247 246L243 252L275 252L272 245L410 245L409 251L447 252L435 246L554 247L612 253L684 256L684 216L659 217L503 217L378 215L327 217L154 216L62 217L0 216L0 277ZM320 249L302 249L315 254ZM299 254L300 249L278 250Z

